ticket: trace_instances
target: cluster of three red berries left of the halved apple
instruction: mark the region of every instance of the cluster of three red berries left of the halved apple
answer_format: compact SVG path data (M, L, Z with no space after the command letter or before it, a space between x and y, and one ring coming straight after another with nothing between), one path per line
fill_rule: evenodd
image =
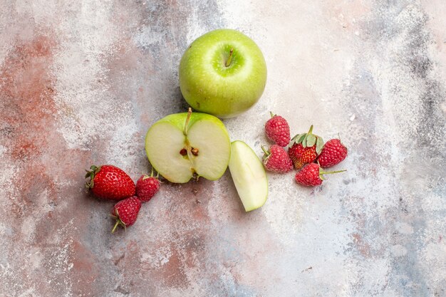
M136 186L127 173L113 165L92 165L86 171L85 178L90 180L85 183L85 187L96 197L119 200L111 212L111 217L116 220L112 233L119 225L127 228L135 224L141 202L152 199L160 189L160 180L153 176L153 171L150 176L142 174Z

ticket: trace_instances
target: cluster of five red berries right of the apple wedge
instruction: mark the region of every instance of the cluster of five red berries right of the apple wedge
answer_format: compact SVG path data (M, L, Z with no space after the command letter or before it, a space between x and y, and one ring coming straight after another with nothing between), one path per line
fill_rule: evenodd
M268 151L263 146L261 147L265 153L266 170L285 173L291 171L294 166L296 170L300 170L294 178L296 182L309 187L322 184L323 174L346 171L324 172L321 170L321 168L332 167L342 162L347 157L348 150L338 139L328 140L324 145L322 137L313 134L313 125L308 132L298 134L290 141L289 125L286 120L271 113L271 119L265 123L265 133L269 140L276 143ZM285 143L287 139L288 143ZM288 154L282 148L287 145L289 146Z

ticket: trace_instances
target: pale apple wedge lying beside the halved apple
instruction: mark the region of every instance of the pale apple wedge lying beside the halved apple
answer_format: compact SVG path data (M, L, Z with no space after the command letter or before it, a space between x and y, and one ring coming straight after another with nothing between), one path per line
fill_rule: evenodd
M264 165L249 145L240 140L231 143L229 170L244 210L250 212L262 207L268 197L268 178Z

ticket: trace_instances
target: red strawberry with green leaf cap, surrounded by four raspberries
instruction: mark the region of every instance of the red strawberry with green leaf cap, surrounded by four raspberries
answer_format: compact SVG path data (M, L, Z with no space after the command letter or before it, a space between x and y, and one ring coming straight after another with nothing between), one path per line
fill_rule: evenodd
M297 170L307 163L314 162L318 154L321 153L322 137L314 135L312 131L313 125L307 133L296 135L291 140L291 143L294 144L288 149L288 155Z

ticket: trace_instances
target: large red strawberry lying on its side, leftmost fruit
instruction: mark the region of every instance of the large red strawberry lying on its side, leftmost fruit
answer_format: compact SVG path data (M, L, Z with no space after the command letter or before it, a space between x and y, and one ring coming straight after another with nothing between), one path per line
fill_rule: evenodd
M92 165L90 171L87 170L87 174L85 174L85 178L88 177L90 177L90 181L85 186L91 189L96 197L120 200L135 194L135 183L118 167Z

